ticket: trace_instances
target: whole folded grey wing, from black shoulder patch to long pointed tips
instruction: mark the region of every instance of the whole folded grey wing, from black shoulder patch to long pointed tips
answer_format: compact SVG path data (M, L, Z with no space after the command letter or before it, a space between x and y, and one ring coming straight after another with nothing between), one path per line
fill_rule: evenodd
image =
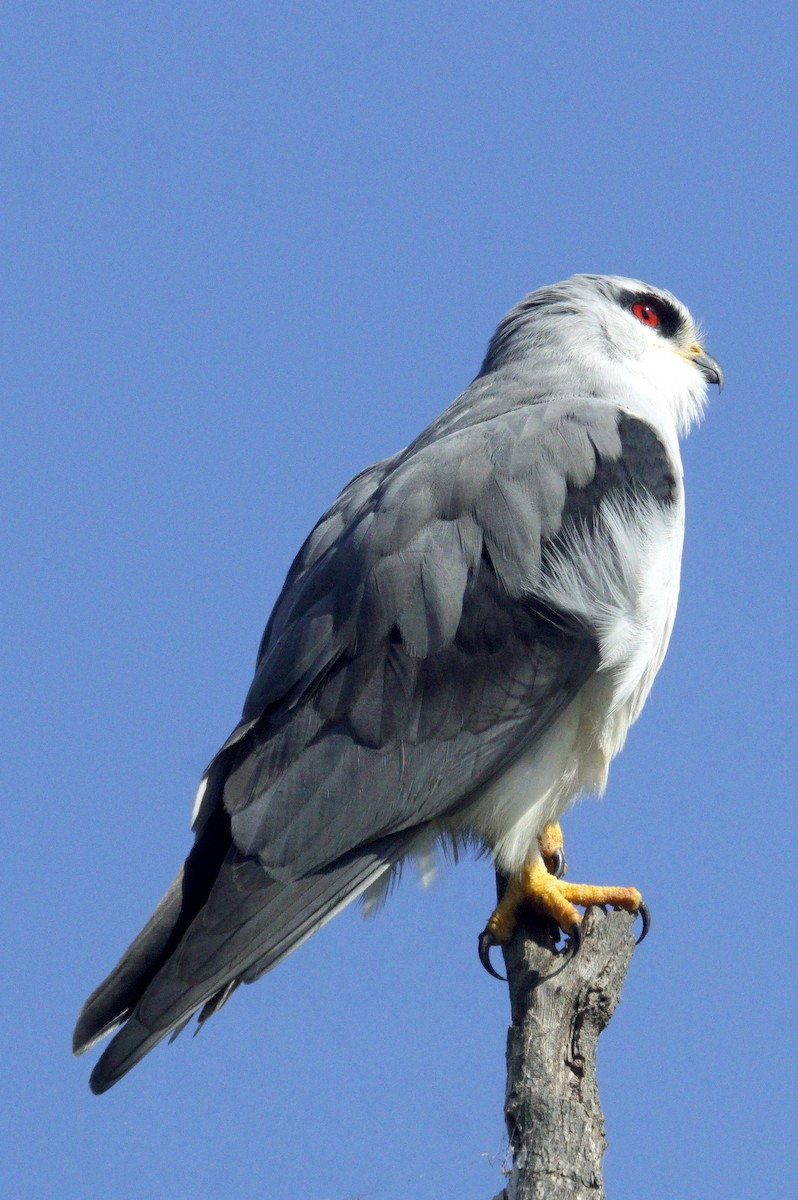
M300 551L185 869L82 1014L78 1049L130 1016L96 1090L468 803L595 670L595 632L534 581L606 496L668 503L667 456L607 406L508 391L358 476Z

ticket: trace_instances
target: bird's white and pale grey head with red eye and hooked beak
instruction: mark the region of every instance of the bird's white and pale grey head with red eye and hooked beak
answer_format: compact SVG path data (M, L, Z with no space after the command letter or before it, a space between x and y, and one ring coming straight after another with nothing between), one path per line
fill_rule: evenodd
M499 324L480 376L509 368L546 395L654 407L680 433L724 374L670 292L617 275L575 275L530 292Z

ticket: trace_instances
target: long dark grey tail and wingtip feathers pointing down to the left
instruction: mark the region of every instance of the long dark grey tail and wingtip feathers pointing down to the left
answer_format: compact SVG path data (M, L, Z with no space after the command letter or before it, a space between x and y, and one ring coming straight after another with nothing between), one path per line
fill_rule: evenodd
M196 898L188 904L186 898L190 856L149 924L80 1014L76 1054L125 1021L91 1074L91 1090L107 1091L158 1042L179 1033L198 1009L205 1020L239 983L252 983L290 954L396 862L412 840L412 830L394 834L289 883L275 881L257 859L233 847L199 908Z

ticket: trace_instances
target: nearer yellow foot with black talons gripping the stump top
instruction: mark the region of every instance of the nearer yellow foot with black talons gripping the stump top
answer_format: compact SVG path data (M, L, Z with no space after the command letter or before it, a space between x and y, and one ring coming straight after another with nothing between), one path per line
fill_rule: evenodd
M547 827L547 829L550 828L552 827ZM546 830L541 834L541 840L545 834ZM570 948L572 953L576 953L580 947L580 925L582 923L582 916L575 905L581 905L583 908L592 905L611 905L613 908L624 908L626 912L638 912L643 918L643 931L637 938L638 942L642 942L650 926L648 908L637 888L602 888L593 887L589 883L568 883L565 880L557 878L544 863L535 859L534 863L524 866L520 878L510 880L504 895L479 936L480 962L497 979L502 979L503 976L498 974L491 965L491 947L506 946L518 922L518 908L524 902L530 904L538 912L556 922L563 932L571 935Z

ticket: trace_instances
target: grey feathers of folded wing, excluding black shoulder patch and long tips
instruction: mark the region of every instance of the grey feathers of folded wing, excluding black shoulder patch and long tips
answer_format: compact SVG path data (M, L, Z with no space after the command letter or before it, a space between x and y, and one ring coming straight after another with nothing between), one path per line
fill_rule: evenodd
M445 816L556 719L598 642L535 578L564 522L634 478L613 474L622 420L589 400L527 404L342 494L264 636L224 786L242 854L289 881Z

